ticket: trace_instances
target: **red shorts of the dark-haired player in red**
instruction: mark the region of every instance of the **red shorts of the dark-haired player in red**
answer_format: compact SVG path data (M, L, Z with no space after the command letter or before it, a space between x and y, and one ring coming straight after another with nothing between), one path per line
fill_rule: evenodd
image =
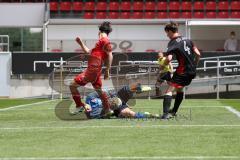
M95 89L102 87L101 70L86 69L83 73L80 73L74 78L74 81L80 86L85 86L87 83L91 83Z

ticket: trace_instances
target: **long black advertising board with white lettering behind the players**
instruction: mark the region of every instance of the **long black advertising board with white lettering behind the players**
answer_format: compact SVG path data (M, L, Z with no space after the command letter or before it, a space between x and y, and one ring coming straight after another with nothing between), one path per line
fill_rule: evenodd
M157 61L157 53L114 53L113 66L116 65L131 65L139 64L137 68L132 67L133 72L146 72L146 67L141 67L141 64L152 64ZM229 55L240 55L240 52L202 52L201 58L227 56L220 59L220 66L224 65L239 65L239 57L228 57ZM87 56L80 53L12 53L12 74L49 74L54 67L63 65L79 64L81 67L86 67ZM199 63L198 67L216 66L216 59L206 59ZM70 65L71 66L71 65ZM123 67L122 71L129 71L128 67ZM216 73L216 69L208 71L199 71L203 74ZM220 69L221 74L240 74L240 67L227 67Z

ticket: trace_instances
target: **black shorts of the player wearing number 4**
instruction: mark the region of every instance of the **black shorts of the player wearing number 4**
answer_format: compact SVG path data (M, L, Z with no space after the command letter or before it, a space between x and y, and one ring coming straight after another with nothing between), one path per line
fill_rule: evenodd
M174 72L171 84L175 88L180 88L184 86L188 86L192 80L195 78L196 73L184 73L184 74L178 74Z

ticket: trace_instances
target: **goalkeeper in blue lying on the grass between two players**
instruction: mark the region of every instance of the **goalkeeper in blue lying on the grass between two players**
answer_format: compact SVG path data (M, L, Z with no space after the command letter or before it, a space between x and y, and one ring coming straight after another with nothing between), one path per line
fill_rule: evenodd
M134 93L141 93L151 90L150 87L142 87L140 84L122 87L118 92L108 90L110 108L113 110L112 114L105 118L115 116L117 118L159 118L159 115L153 115L148 112L134 112L127 104L128 100L133 97ZM97 92L89 93L86 97L87 111L85 114L89 119L103 118L102 101Z

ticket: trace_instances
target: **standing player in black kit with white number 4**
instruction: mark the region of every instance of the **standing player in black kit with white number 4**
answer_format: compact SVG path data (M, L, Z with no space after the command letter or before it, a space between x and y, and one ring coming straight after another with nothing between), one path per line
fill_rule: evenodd
M165 53L165 64L167 65L172 60L173 55L178 61L178 67L173 73L163 99L163 115L161 118L169 119L171 115L176 116L183 100L184 86L188 86L196 76L196 66L200 59L200 52L191 40L180 36L177 23L170 22L164 29L170 39ZM173 91L176 91L177 94L174 107L170 110Z

